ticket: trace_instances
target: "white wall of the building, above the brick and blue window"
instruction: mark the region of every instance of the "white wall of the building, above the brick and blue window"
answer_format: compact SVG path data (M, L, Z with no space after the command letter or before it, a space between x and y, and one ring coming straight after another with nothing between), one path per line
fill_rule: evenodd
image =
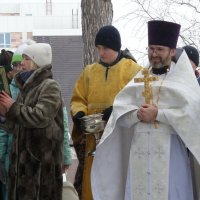
M72 10L75 14L78 11L78 16L72 16ZM0 16L1 32L81 29L80 0L52 0L51 16L46 15L45 0L12 0L12 3L1 0L0 13L19 13L19 16Z

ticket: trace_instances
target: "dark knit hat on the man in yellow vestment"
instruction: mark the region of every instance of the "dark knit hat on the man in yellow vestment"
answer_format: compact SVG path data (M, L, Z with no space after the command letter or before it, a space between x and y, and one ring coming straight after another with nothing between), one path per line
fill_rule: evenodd
M95 38L95 46L103 45L114 51L121 49L121 37L119 31L111 25L103 26Z

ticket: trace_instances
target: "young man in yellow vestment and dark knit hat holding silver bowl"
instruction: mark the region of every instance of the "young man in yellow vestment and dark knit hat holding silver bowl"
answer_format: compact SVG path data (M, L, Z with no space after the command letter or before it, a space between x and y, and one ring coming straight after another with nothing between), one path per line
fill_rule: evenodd
M82 200L93 199L90 189L93 157L87 156L87 153L94 149L96 143L93 135L83 134L80 119L86 115L103 113L103 120L107 121L115 96L141 69L127 51L120 50L121 38L114 26L104 26L98 31L95 46L100 61L83 69L71 99L74 121L72 139L79 160L74 185Z

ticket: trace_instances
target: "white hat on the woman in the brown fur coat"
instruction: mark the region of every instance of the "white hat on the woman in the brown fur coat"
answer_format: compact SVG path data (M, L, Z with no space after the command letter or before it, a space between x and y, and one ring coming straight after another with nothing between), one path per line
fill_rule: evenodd
M51 46L47 43L35 43L26 47L23 55L27 55L38 67L49 65L52 62Z

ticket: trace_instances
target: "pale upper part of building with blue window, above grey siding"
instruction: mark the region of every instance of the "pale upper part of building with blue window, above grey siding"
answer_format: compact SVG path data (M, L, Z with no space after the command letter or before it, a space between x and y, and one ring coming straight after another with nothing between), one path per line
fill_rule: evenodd
M1 0L0 48L37 35L81 35L80 0Z

